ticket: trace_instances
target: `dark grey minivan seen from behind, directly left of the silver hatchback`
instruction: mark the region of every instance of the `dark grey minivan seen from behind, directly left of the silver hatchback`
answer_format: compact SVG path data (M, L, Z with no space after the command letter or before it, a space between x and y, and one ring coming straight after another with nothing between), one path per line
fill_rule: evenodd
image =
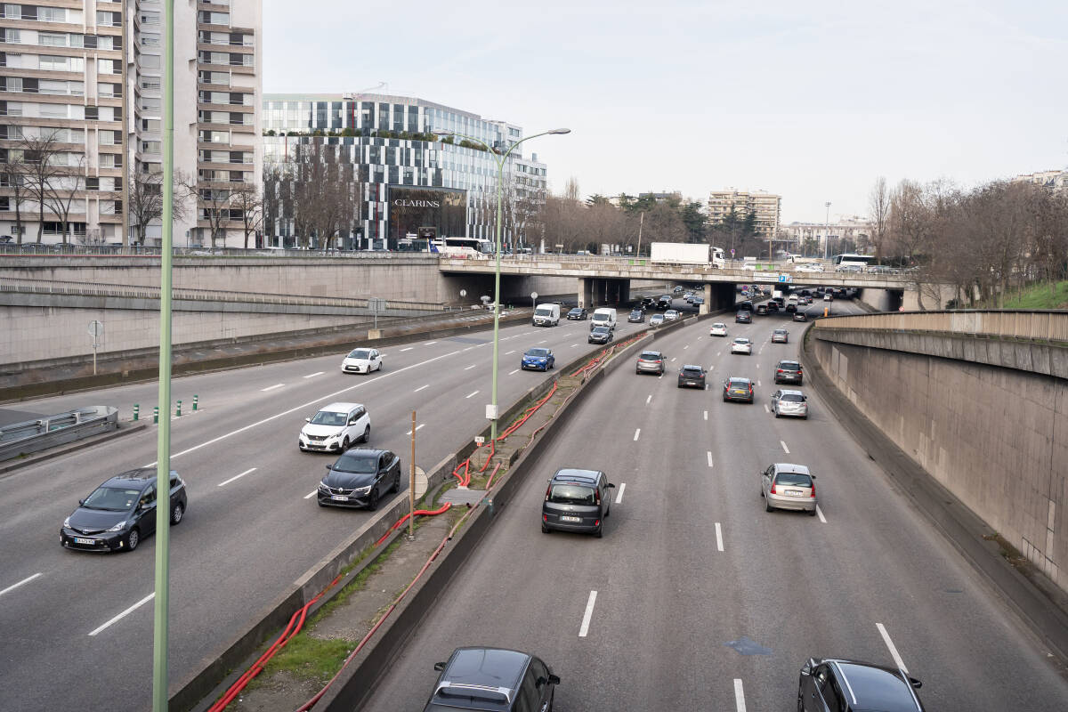
M545 490L541 531L586 532L599 539L612 509L609 489L613 487L608 475L597 470L557 470Z

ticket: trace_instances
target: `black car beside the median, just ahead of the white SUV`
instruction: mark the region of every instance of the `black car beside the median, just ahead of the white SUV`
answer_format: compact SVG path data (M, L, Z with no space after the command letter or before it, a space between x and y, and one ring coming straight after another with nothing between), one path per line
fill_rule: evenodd
M400 490L400 458L390 450L354 447L326 468L318 490L320 507L374 510L382 494Z

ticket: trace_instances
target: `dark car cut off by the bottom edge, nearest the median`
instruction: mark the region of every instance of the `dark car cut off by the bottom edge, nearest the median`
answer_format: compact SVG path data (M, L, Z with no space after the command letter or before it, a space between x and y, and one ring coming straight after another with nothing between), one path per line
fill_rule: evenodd
M560 678L534 655L504 648L457 648L434 669L441 673L423 712L552 710Z

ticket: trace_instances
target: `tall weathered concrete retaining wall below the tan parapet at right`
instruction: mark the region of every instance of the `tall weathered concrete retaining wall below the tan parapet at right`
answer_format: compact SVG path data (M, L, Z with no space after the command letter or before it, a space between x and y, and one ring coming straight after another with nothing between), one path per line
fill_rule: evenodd
M813 335L838 390L1068 590L1068 380Z

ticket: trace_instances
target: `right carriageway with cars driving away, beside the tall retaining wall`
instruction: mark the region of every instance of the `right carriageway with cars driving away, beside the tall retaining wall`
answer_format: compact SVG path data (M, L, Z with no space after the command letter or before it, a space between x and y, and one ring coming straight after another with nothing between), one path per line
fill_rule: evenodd
M822 303L813 304L819 312ZM834 311L855 308L834 302ZM367 707L422 709L456 646L513 647L563 679L557 710L794 710L807 656L898 665L927 709L1068 709L1068 684L984 581L895 490L805 384L807 421L765 407L772 369L798 355L787 315L724 318L753 355L691 323L656 347L663 378L619 367L577 405L534 473L408 642ZM771 344L774 326L788 344ZM684 363L709 390L676 387ZM756 404L723 402L745 376ZM792 387L792 386L790 386ZM819 517L766 512L757 473L817 475ZM603 539L538 526L560 466L616 484Z

